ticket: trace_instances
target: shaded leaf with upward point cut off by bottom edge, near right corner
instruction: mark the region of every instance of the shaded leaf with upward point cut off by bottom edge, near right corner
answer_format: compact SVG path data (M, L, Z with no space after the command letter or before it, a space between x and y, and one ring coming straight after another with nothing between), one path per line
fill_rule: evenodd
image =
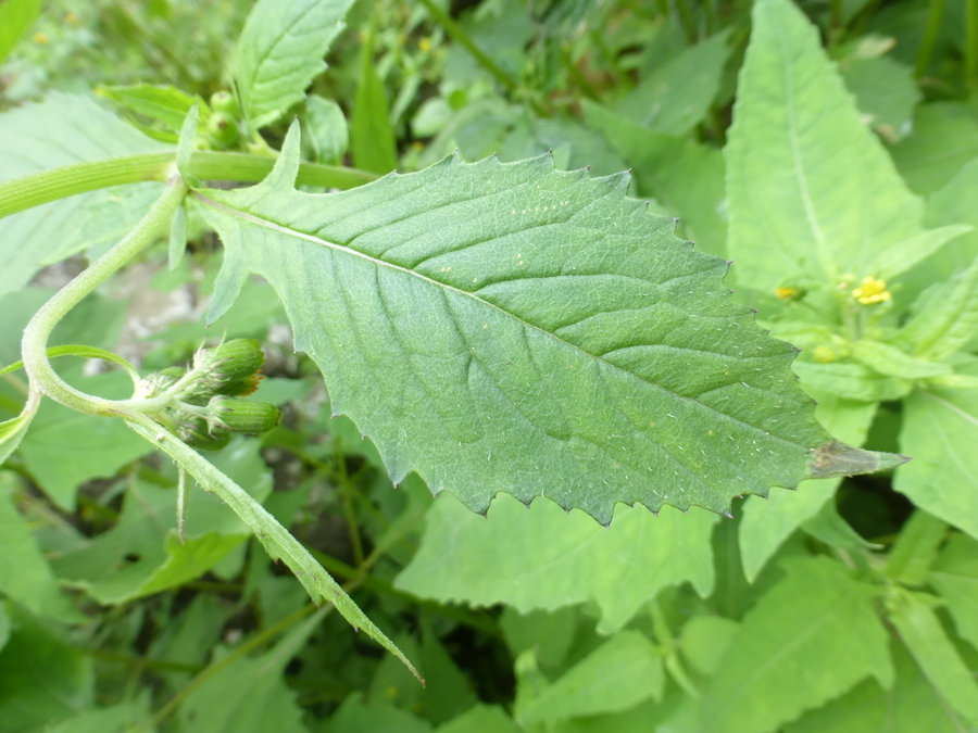
M866 680L785 733L962 733L957 715L936 693L902 644L892 644L895 681L883 690Z

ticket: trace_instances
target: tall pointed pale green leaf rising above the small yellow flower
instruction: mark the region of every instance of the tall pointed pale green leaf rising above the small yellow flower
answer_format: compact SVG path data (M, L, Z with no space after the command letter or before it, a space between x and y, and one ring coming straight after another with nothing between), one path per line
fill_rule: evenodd
M923 202L860 119L817 29L790 0L758 0L726 148L729 253L740 282L835 287L899 275L958 229L921 235Z

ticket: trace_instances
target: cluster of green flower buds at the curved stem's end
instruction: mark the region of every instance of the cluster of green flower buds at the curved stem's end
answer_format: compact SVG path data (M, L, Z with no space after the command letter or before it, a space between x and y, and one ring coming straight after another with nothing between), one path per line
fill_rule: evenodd
M142 380L138 396L181 441L220 451L231 433L260 435L278 425L278 408L244 397L258 389L265 355L254 339L234 339L193 355L190 369L170 367Z

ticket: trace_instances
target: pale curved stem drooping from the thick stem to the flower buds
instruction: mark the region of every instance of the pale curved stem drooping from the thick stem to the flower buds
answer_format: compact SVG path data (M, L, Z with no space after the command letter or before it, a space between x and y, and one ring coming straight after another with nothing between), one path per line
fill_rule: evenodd
M120 407L114 401L86 394L62 380L51 367L48 358L48 339L54 326L68 311L165 230L186 193L187 187L183 180L178 176L172 178L163 195L133 231L78 277L59 290L34 315L34 318L27 324L27 328L24 329L24 339L21 342L24 368L34 389L40 390L49 397L79 413L129 417L130 410Z

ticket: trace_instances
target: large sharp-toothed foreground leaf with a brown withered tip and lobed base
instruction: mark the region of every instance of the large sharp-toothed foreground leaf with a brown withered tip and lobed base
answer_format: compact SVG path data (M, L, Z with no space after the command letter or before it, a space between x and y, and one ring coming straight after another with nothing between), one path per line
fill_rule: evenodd
M315 195L293 188L298 151L293 125L262 185L196 194L227 247L211 317L264 276L394 482L415 470L478 511L503 491L607 523L617 502L726 511L879 467L813 420L793 347L627 177L448 159Z

